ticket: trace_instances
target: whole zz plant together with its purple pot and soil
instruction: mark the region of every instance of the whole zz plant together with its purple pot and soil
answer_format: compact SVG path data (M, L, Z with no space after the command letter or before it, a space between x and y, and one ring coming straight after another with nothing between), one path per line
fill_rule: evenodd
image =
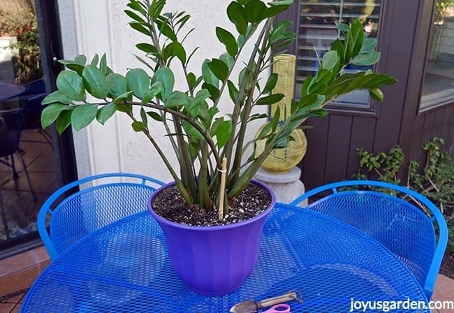
M147 71L131 68L126 75L113 73L106 57L85 56L63 60L68 70L57 78L58 90L47 96L41 115L43 127L55 122L61 133L70 124L78 131L95 119L104 124L115 112L131 118L134 131L145 134L170 171L174 182L156 191L149 211L166 236L171 262L189 288L208 295L237 289L254 268L258 242L266 215L272 209L272 192L251 182L268 154L286 147L294 129L307 117L323 117L323 106L335 97L356 89L368 89L382 101L380 87L395 79L372 71L345 73L353 63L372 65L379 60L376 41L366 38L360 20L338 24L344 39L337 39L319 61L316 75L302 84L302 98L292 101L291 112L279 121L279 112L254 140L247 141L248 124L265 115L254 114L257 105L270 105L282 94L270 94L277 74L261 82L272 64L271 52L291 43L295 34L288 21L274 23L293 0L264 3L261 0L234 0L227 7L235 32L221 27L213 36L226 53L200 64L200 72L188 70L196 50L184 48L189 15L163 13L165 0L129 0L125 13L129 25L145 36L136 46ZM242 63L244 47L252 45ZM174 89L174 70L184 73L186 87ZM233 78L234 68L241 68ZM222 96L226 94L226 96ZM94 100L96 99L96 100ZM229 100L228 100L229 99ZM219 103L230 101L230 112ZM165 127L180 170L170 163L156 143L152 125ZM265 140L256 155L255 140Z

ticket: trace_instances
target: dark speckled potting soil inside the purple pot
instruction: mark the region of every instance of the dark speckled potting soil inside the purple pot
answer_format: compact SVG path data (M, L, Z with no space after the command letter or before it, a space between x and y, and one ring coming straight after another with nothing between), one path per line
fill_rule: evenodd
M240 196L228 202L229 212L222 221L217 210L189 208L180 191L173 186L161 191L154 198L153 210L168 221L191 226L219 226L246 221L265 211L271 203L271 196L266 189L256 184L249 184Z

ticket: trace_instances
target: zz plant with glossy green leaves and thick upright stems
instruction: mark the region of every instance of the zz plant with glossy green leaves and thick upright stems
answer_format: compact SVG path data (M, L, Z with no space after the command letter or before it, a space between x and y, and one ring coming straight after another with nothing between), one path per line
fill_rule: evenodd
M200 72L193 73L189 62L197 49L184 48L186 36L193 31L185 27L189 15L163 13L166 0L129 0L124 12L131 17L129 26L144 35L144 41L136 47L145 52L145 57L137 58L147 71L131 68L126 75L114 73L105 55L95 56L89 63L85 56L62 60L68 69L57 78L58 90L43 101L47 107L41 116L42 126L55 122L61 133L72 124L78 131L94 119L104 124L116 111L121 112L131 119L133 130L144 133L159 153L186 204L212 210L219 203L218 169L224 158L228 165L223 194L230 200L247 188L273 149L286 147L292 140L291 132L302 127L307 117L327 114L323 110L326 103L357 89L368 89L373 99L382 101L379 88L396 82L370 70L346 73L349 64L376 64L380 54L374 51L376 40L366 37L360 20L350 25L337 24L342 38L335 40L318 61L316 75L302 84L301 99L292 101L288 119L279 121L276 112L257 138L246 141L249 122L266 117L254 114L254 107L277 103L283 97L271 94L277 74L269 75L266 82L259 77L269 71L272 51L282 50L295 38L288 31L291 22L274 22L274 17L292 3L293 0L231 1L226 14L235 31L216 27L213 32L226 53L206 59L200 64ZM247 45L252 45L251 53L244 56ZM244 59L247 61L241 61ZM174 89L173 68L177 66L186 80L182 90ZM237 68L240 71L234 71ZM233 73L240 75L234 78ZM227 98L223 94L230 98L232 109L228 114L219 110L219 103ZM178 163L184 164L180 173L156 143L149 126L156 122L165 127ZM265 150L257 156L247 150L254 147L255 140L266 141ZM228 212L227 205L224 212Z

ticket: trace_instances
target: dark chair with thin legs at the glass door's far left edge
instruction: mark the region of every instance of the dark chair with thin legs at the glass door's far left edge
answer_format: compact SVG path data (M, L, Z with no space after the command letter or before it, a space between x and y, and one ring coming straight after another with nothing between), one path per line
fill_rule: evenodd
M36 194L31 187L29 173L27 172L27 166L24 162L22 154L23 150L20 150L20 133L22 131L22 110L8 110L0 112L0 163L13 169L13 180L19 178L17 173L14 156L19 159L24 169L25 177L30 187L31 196L33 201L36 201ZM3 159L5 158L5 159Z

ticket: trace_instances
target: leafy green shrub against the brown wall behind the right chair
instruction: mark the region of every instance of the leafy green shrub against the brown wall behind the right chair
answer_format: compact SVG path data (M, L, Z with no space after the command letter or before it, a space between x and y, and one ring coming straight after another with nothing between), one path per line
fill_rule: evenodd
M423 167L418 161L411 160L407 168L407 180L401 183L398 173L404 164L404 153L398 145L392 147L388 153L379 152L372 154L358 148L360 167L367 173L357 173L353 177L359 180L367 179L371 172L379 176L382 182L405 184L436 203L446 217L449 229L449 249L454 251L454 162L448 152L441 151L444 145L443 138L435 137L425 143L422 149L427 157ZM416 203L418 204L418 203Z

